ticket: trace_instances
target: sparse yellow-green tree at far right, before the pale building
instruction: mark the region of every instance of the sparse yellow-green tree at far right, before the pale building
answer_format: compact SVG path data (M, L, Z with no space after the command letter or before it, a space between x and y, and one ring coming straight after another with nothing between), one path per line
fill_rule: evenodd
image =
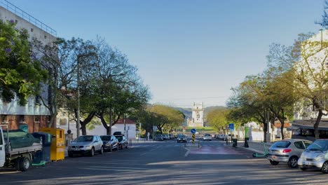
M313 128L315 138L319 139L318 127L323 115L328 92L327 57L328 41L322 40L320 34L299 34L293 46L271 45L269 63L282 71L290 71L293 80L282 78L294 90L301 102L313 106L317 114ZM308 108L309 106L306 106Z

